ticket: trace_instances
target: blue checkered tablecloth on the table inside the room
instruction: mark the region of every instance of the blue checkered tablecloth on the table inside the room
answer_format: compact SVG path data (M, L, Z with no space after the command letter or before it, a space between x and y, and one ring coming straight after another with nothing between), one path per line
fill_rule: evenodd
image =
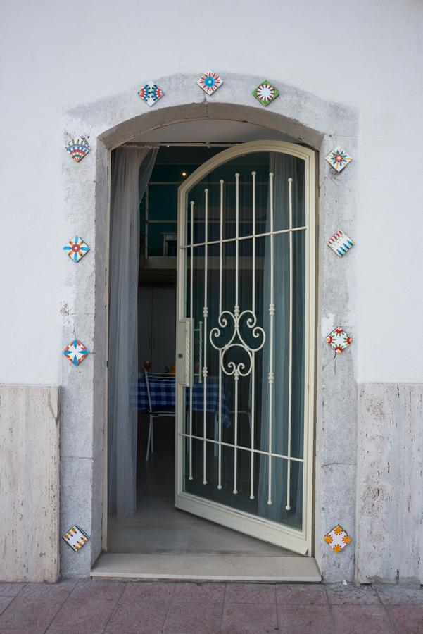
M150 383L151 405L154 409L160 407L175 407L175 380L160 381L155 377ZM207 411L213 411L215 416L219 416L219 381L209 377L206 388L206 406ZM185 390L186 403L189 408L189 387ZM146 380L144 377L138 379L137 389L137 409L149 409L149 397L147 394ZM135 400L135 399L134 399ZM203 411L204 404L204 383L194 383L192 386L192 409L195 411ZM227 406L225 392L222 389L222 423L226 428L231 426L231 417Z

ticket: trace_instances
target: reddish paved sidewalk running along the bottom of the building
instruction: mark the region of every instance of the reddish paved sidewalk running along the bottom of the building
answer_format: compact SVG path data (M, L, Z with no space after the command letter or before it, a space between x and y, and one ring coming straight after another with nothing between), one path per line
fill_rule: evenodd
M423 588L342 584L0 583L1 634L422 634Z

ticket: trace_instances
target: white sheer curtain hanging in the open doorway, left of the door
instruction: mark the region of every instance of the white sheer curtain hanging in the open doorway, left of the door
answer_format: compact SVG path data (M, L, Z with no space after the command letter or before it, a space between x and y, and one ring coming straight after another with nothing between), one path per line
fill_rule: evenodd
M157 148L120 147L112 157L108 352L108 511L118 519L137 506L139 202Z

